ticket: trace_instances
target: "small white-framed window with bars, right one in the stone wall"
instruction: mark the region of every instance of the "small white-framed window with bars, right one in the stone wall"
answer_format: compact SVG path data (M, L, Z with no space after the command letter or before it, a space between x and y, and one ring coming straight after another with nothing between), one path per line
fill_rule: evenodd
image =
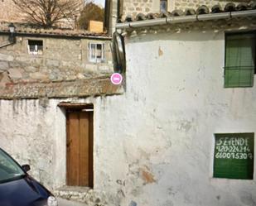
M96 63L104 62L103 43L89 43L89 61Z

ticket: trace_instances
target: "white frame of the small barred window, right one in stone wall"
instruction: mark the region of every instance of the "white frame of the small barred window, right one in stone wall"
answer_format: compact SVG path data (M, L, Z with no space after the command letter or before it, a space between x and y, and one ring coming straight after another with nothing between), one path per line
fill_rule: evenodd
M95 46L93 54L92 46ZM101 46L101 58L97 58L97 46ZM94 55L94 56L93 56ZM88 43L88 60L92 63L104 63L105 62L105 43L104 42L89 42Z

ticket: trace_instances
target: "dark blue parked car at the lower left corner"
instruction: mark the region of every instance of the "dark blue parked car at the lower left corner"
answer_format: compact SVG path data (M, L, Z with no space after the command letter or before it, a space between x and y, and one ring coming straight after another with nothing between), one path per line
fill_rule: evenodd
M29 165L19 165L0 148L0 205L57 206L57 199L28 170Z

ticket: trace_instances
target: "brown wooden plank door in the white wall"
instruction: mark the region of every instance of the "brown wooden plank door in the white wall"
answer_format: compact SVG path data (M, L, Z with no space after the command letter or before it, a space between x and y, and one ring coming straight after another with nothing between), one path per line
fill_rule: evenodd
M67 111L67 184L93 187L93 112Z

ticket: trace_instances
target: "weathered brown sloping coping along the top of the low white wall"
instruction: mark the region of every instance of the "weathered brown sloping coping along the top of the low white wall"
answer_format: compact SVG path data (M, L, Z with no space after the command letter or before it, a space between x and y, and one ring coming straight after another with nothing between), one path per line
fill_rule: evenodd
M0 76L1 77L1 76ZM10 77L10 73L8 75ZM2 75L2 81L7 79ZM84 79L63 82L36 82L6 84L4 89L0 89L0 97L4 99L17 98L69 98L88 97L99 95L113 95L123 93L121 85L114 85L110 82L110 77L94 79ZM0 83L1 85L1 83Z

